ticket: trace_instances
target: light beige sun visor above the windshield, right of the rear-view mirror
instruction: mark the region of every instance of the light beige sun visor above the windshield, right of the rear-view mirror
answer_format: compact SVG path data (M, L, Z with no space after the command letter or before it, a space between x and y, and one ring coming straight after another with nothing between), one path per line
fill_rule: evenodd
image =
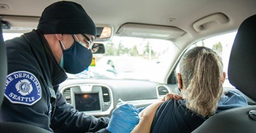
M185 33L180 28L161 25L125 23L117 30L119 36L174 40Z

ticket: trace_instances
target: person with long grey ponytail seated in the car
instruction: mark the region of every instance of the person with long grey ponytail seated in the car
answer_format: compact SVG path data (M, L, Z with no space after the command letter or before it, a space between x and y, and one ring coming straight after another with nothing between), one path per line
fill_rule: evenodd
M223 93L225 72L221 58L207 47L194 47L181 58L178 88L158 103L139 113L139 124L132 131L192 132L215 113L247 106L247 100L234 91ZM171 98L171 100L168 100Z

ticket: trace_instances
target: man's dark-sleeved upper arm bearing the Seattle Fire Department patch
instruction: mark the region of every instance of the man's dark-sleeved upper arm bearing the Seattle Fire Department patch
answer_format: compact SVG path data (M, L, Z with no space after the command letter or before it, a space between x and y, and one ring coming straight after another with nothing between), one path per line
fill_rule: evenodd
M6 76L1 119L51 131L46 83L31 65L16 62L9 62L9 65L14 67L9 67Z

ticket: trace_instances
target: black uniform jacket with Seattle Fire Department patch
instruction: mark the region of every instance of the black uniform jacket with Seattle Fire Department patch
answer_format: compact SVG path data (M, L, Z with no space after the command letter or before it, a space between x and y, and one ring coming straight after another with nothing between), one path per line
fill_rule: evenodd
M67 79L38 30L6 40L8 76L1 120L23 122L51 132L107 132L109 118L78 112L58 85Z

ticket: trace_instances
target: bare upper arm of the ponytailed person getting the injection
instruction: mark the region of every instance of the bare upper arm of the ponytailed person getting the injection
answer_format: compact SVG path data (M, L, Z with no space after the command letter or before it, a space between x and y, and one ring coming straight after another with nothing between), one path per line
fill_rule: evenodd
M161 105L161 103L164 103L164 101L160 101L157 103L152 103L147 108L142 110L142 112L139 113L139 124L132 130L132 133L148 133L150 132L151 123L154 120L154 115Z

